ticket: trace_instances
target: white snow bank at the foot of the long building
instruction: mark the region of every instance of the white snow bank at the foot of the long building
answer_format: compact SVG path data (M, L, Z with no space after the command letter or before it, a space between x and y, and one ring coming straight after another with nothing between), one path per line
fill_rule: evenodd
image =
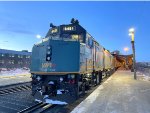
M27 68L1 69L0 76L16 76L30 74Z

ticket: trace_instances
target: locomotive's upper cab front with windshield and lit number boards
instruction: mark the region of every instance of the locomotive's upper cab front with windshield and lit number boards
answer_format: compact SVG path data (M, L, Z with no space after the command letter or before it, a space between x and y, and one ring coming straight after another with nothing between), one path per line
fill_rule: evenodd
M49 29L46 38L52 40L64 40L64 41L79 41L85 42L85 30L78 24L52 26Z

